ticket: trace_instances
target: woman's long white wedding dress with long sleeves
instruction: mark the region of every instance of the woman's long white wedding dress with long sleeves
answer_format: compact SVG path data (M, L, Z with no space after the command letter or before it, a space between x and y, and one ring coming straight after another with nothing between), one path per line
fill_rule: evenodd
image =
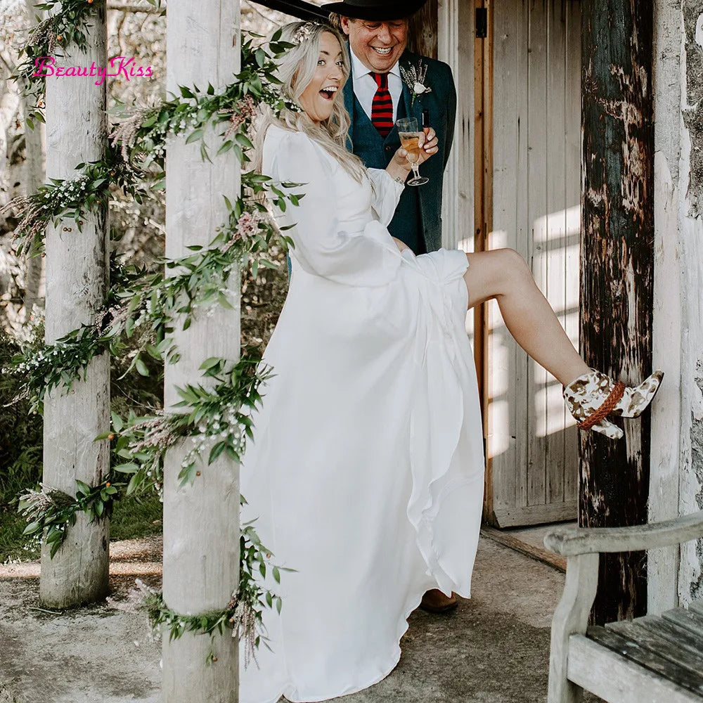
M484 456L467 259L401 254L386 225L404 186L375 169L359 184L302 133L269 127L263 172L306 185L280 217L292 277L242 519L295 572L279 586L269 569L283 609L264 611L272 651L240 667L240 701L319 701L394 669L427 589L470 595Z

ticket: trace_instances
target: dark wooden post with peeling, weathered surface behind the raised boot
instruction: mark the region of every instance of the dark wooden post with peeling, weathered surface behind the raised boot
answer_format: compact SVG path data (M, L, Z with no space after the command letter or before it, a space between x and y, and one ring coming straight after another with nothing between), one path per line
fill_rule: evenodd
M632 384L652 366L653 0L583 0L581 16L581 352ZM581 434L582 527L647 521L650 411L625 432L621 441ZM645 611L645 560L602 557L596 623Z

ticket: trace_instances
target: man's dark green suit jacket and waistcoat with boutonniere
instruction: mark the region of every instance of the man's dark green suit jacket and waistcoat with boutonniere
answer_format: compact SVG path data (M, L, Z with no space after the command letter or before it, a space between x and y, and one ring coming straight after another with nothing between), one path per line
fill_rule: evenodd
M456 117L456 89L451 68L431 58L406 51L400 59L402 67L417 67L422 61L427 66L425 83L432 92L423 93L411 105L412 93L403 81L398 117L415 117L418 126L423 123L423 110L430 111L430 126L437 132L439 152L420 166L420 173L430 179L424 186L406 186L401 195L395 217L388 229L392 236L405 242L415 254L436 251L441 247L441 191L444 167L454 138ZM400 146L396 127L384 139L371 124L359 101L354 97L352 77L344 86L344 105L352 117L349 146L361 157L367 168L385 169Z

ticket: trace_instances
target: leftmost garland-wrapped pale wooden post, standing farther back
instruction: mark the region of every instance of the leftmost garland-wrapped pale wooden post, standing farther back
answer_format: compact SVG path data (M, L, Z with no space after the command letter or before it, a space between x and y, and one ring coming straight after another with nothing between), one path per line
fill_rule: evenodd
M75 44L61 65L107 63L105 2L96 3L86 53ZM46 79L46 174L72 179L82 162L101 159L107 140L105 82L89 77ZM86 214L82 231L72 219L46 229L46 342L51 344L82 324L95 322L108 287L107 207ZM75 496L76 479L99 484L110 466L108 441L93 441L110 427L110 359L93 359L85 380L65 393L58 387L44 403L44 483ZM50 607L101 600L108 593L109 522L88 525L79 512L53 559L41 549L39 598Z

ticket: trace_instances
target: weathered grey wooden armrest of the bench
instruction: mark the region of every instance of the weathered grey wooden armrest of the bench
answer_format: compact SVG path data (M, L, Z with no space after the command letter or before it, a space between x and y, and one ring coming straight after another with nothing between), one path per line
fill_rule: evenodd
M603 552L638 552L703 537L703 510L676 520L634 527L554 529L545 536L546 548L565 556Z

